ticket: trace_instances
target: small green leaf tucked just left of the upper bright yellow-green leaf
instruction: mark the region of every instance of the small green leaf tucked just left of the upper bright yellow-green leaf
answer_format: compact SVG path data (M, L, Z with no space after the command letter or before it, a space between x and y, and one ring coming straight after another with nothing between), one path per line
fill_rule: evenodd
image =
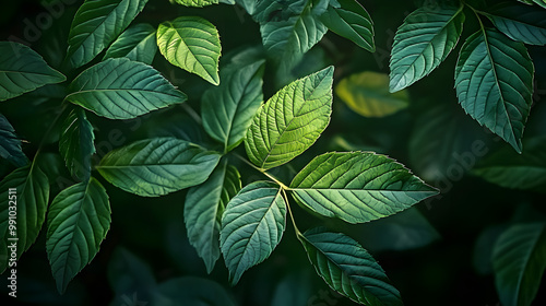
M130 26L111 44L103 60L126 57L130 60L152 64L157 51L155 27L147 23Z

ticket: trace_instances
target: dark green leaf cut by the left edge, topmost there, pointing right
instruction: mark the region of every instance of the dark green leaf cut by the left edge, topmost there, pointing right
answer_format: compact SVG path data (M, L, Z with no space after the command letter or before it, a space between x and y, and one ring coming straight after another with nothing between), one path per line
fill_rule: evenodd
M0 42L0 102L66 80L27 46Z

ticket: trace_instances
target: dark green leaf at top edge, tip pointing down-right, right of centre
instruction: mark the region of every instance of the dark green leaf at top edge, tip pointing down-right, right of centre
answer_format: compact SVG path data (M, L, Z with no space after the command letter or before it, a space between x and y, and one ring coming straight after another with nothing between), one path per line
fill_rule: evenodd
M340 5L329 5L320 21L329 30L351 39L358 47L376 51L373 43L373 22L366 9L355 0L337 0Z

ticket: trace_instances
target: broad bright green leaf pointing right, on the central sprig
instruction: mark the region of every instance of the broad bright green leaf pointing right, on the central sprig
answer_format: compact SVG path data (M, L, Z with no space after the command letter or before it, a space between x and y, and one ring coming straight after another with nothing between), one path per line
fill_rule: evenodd
M349 223L389 216L438 193L402 164L371 152L319 155L290 189L299 204Z

